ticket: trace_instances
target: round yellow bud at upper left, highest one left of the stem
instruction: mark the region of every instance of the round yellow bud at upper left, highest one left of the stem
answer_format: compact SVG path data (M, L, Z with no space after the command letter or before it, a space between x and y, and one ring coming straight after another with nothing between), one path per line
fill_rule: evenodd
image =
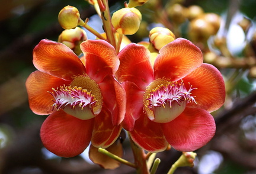
M78 9L69 5L60 10L58 20L64 29L75 28L78 24L83 23Z

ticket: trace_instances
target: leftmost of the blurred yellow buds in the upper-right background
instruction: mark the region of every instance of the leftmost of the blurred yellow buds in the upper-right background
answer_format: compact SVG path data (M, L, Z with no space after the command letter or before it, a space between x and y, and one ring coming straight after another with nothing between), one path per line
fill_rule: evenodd
M176 24L183 23L188 17L188 9L183 5L174 4L167 9L168 17Z

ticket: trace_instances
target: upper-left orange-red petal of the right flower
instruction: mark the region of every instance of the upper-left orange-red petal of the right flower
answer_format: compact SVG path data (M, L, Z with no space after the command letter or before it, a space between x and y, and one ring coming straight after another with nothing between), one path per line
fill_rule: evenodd
M119 53L120 66L116 77L120 82L130 81L140 89L146 89L153 80L151 54L148 49L139 44L131 43Z

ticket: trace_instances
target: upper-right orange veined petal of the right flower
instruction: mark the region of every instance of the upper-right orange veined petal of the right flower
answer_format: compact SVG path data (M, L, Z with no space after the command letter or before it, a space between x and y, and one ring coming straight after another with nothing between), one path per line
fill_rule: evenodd
M201 50L191 41L177 38L159 50L154 65L155 79L181 79L202 63Z

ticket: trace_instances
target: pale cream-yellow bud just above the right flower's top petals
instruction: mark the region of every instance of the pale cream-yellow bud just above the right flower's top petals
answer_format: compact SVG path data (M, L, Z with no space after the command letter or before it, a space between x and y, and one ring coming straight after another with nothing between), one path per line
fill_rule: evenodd
M160 50L166 44L175 40L175 35L168 28L155 27L149 31L149 38L153 46Z

